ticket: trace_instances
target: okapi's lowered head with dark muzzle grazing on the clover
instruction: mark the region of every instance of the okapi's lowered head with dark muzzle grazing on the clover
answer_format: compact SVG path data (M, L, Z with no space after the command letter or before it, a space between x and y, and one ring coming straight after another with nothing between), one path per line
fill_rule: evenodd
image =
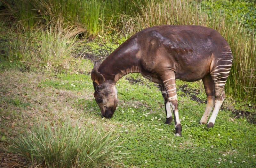
M117 106L116 86L111 81L105 80L104 76L98 72L100 64L96 62L92 69L91 78L94 87L94 98L100 107L101 116L111 118Z

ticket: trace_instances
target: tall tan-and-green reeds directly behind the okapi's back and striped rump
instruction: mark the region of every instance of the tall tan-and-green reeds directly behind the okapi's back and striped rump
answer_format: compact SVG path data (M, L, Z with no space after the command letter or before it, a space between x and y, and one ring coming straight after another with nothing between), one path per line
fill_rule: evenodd
M139 30L156 25L200 25L217 30L228 41L233 53L227 94L256 106L256 43L254 35L243 29L244 18L228 18L220 11L208 15L193 1L148 0L140 8Z

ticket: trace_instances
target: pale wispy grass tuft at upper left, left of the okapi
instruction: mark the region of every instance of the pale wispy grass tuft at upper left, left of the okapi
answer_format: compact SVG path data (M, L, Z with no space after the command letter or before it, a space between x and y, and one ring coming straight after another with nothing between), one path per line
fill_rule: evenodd
M34 59L40 62L47 69L51 68L68 68L69 62L72 61L72 51L74 50L75 37L72 36L74 29L65 28L60 20L53 26L49 24L46 30L37 31L34 49L36 54Z

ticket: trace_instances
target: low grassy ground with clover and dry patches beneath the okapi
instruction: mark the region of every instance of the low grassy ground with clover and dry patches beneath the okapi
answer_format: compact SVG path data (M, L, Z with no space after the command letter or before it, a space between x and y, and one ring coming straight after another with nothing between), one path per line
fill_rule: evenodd
M156 84L139 74L118 81L116 112L111 120L101 118L92 95L91 60L103 60L117 45L77 43L74 55L85 58L82 71L45 71L1 59L0 167L36 167L39 163L29 165L8 150L10 138L38 122L67 120L78 120L81 127L91 120L103 130L113 129L122 151L129 150L122 159L127 167L256 167L255 109L227 99L213 128L198 125L206 107L201 83L177 81L182 137L174 136L174 123L164 124L164 101Z

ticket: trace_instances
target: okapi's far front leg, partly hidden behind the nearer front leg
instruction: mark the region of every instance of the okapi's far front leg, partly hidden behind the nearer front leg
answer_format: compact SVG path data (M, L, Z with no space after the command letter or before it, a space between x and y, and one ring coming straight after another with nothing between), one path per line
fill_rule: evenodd
M164 107L165 107L165 115L166 115L166 121L165 124L171 124L172 123L172 110L171 110L171 106L170 106L170 102L169 99L167 97L167 93L164 89L164 85L163 84L158 84L160 87L160 91L163 95L164 98Z

